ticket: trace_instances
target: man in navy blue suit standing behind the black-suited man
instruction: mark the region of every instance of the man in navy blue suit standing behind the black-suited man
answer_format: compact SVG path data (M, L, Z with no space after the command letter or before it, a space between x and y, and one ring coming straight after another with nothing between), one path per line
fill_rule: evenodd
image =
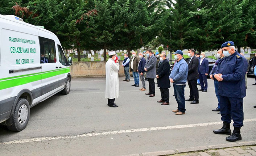
M199 80L200 80L200 85L201 89L199 89L202 92L207 92L208 84L207 84L207 75L209 71L209 62L205 58L205 53L201 52L200 54L200 62L199 62Z

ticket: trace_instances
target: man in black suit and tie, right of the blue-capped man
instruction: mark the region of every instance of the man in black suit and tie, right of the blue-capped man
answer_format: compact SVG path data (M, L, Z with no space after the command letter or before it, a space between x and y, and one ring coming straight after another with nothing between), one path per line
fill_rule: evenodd
M190 104L199 104L197 79L198 79L198 58L195 56L195 50L189 49L187 55L190 57L187 60L189 65L189 72L187 74L187 83L189 84L190 95L186 101L192 101Z

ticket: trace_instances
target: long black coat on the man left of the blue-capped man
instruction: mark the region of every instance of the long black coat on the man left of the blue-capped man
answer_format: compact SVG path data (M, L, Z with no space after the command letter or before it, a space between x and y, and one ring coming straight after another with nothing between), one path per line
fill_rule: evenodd
M160 88L170 88L170 80L169 80L169 75L170 75L170 64L167 59L163 60L157 70L157 75L159 76L158 78L158 84L157 87Z

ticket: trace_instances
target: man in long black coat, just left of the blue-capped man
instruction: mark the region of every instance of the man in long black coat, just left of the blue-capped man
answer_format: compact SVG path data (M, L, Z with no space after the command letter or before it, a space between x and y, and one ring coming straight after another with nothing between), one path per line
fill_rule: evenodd
M170 80L169 80L170 64L166 59L165 54L160 55L160 60L161 60L161 63L158 66L156 77L158 78L157 87L160 87L162 98L157 102L162 103L161 105L169 105L169 98L170 98L169 88L171 87Z

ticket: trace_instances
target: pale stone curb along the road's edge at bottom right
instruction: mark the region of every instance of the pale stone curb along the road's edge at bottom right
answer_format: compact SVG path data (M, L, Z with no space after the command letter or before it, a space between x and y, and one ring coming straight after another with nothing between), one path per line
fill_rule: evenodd
M228 148L228 147L253 146L253 145L256 145L256 141L227 143L227 144L199 146L199 147L190 147L190 148L179 148L179 149L171 149L168 151L145 152L140 154L123 155L123 156L167 156L167 155L174 155L179 153L196 152L196 151L220 149L220 148Z

